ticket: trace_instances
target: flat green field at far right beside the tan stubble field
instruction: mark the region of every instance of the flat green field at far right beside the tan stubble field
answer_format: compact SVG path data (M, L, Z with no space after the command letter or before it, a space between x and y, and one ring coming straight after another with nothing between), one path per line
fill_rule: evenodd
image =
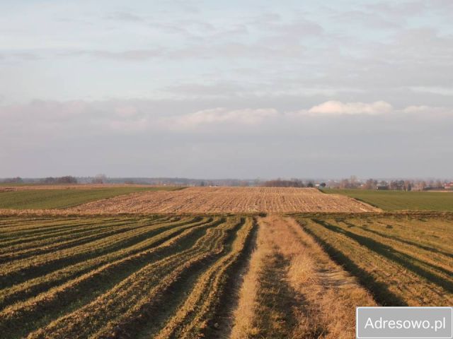
M431 210L453 212L453 191L387 191L369 189L322 189L342 194L383 210Z

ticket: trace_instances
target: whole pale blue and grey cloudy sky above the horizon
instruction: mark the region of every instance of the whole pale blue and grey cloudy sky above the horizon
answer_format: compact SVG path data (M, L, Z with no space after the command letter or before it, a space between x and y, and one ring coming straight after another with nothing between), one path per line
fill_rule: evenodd
M0 2L0 177L453 178L453 1Z

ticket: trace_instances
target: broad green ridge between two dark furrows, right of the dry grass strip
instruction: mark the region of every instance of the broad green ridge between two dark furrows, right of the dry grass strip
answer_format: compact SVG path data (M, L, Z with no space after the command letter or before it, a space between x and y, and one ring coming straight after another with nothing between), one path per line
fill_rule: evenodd
M439 306L452 300L447 290L392 260L391 252L360 244L328 226L320 220L306 221L303 225L334 260L357 276L377 302L392 306Z

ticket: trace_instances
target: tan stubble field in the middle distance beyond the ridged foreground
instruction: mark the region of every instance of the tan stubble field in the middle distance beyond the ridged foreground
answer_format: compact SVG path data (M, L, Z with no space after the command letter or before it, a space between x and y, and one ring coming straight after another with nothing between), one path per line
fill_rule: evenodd
M290 187L188 187L92 201L67 213L379 212L347 196Z

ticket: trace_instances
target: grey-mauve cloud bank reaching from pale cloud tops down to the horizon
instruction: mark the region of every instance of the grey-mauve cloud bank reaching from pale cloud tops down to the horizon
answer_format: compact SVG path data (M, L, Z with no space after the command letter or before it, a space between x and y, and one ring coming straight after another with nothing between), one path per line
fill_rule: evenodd
M451 176L451 107L398 105L389 114L369 114L381 106L337 102L329 111L332 102L323 102L297 106L303 115L238 100L230 104L236 107L203 109L212 102L0 105L0 145L7 145L0 147L0 177L318 177L348 175L351 168L366 176ZM323 114L307 113L319 107ZM365 113L331 114L338 107Z

